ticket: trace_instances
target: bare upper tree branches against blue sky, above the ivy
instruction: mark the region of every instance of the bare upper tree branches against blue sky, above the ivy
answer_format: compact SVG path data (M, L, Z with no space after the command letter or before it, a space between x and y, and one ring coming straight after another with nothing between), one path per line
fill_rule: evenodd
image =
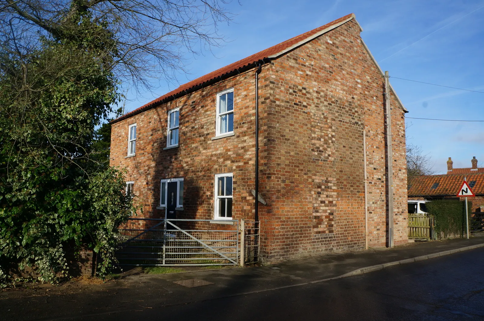
M12 34L22 55L38 49L39 35L62 39L77 37L79 15L106 24L116 40L116 58L110 69L123 86L152 90L153 79L176 82L185 71L184 55L204 47L220 46L224 39L217 24L231 16L224 0L0 0L0 43L10 44ZM5 28L8 21L14 30ZM0 61L1 63L1 61ZM7 72L4 65L1 68Z

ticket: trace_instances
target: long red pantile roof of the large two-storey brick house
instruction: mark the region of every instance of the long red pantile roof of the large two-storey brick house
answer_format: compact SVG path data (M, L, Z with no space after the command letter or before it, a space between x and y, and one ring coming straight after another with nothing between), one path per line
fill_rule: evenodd
M286 40L286 41L284 41L280 44L273 45L272 47L267 48L267 49L262 50L262 51L259 51L258 53L254 54L254 55L243 58L239 61L231 63L228 66L217 69L217 70L213 71L212 73L207 73L206 75L201 76L197 79L194 79L194 80L192 80L192 81L190 81L190 82L188 82L184 85L181 85L179 88L172 90L172 91L166 93L165 95L163 95L163 96L161 96L161 97L159 97L159 98L157 98L157 99L155 99L151 102L148 102L147 104L133 110L132 112L129 112L129 113L113 120L112 123L118 122L118 121L125 119L125 118L132 117L132 116L139 114L139 113L141 113L145 110L151 109L151 108L153 108L153 107L155 107L155 106L157 106L161 103L168 102L168 101L174 99L175 97L177 97L177 95L186 94L193 88L197 88L197 87L199 87L203 84L206 84L206 83L208 83L208 82L210 82L210 81L212 81L216 78L223 77L224 75L232 73L236 70L246 68L246 67L250 67L250 66L253 66L253 65L255 66L255 64L258 61L261 61L261 60L265 61L267 59L277 58L278 56L286 53L287 51L294 49L297 46L314 39L315 37L319 36L320 34L327 32L331 29L334 29L334 28L348 22L349 20L353 19L354 17L355 17L354 14L345 15L344 17L336 19L336 20L334 20L330 23L327 23L324 26L321 26L321 27L318 27L316 29L304 32L304 33L300 34L299 36L293 37L293 38Z

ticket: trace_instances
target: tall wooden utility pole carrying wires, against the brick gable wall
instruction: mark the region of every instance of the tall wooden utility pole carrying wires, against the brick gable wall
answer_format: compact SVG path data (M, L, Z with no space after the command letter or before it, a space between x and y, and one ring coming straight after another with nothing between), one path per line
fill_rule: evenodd
M388 163L388 247L393 248L393 153L392 153L392 109L390 108L390 83L385 72L385 114L387 126L387 163Z

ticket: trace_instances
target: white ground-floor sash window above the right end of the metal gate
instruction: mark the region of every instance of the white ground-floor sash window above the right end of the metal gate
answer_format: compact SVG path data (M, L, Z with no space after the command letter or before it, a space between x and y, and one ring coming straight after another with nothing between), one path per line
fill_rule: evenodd
M233 174L215 175L215 219L232 219Z

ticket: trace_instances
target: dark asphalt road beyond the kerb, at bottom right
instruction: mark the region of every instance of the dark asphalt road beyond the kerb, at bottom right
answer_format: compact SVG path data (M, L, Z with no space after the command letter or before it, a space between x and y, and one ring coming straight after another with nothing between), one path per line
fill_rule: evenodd
M132 320L141 315L159 320L166 320L162 316L173 320L483 320L484 250L361 276L179 306L153 307L138 313L123 317L129 316Z

